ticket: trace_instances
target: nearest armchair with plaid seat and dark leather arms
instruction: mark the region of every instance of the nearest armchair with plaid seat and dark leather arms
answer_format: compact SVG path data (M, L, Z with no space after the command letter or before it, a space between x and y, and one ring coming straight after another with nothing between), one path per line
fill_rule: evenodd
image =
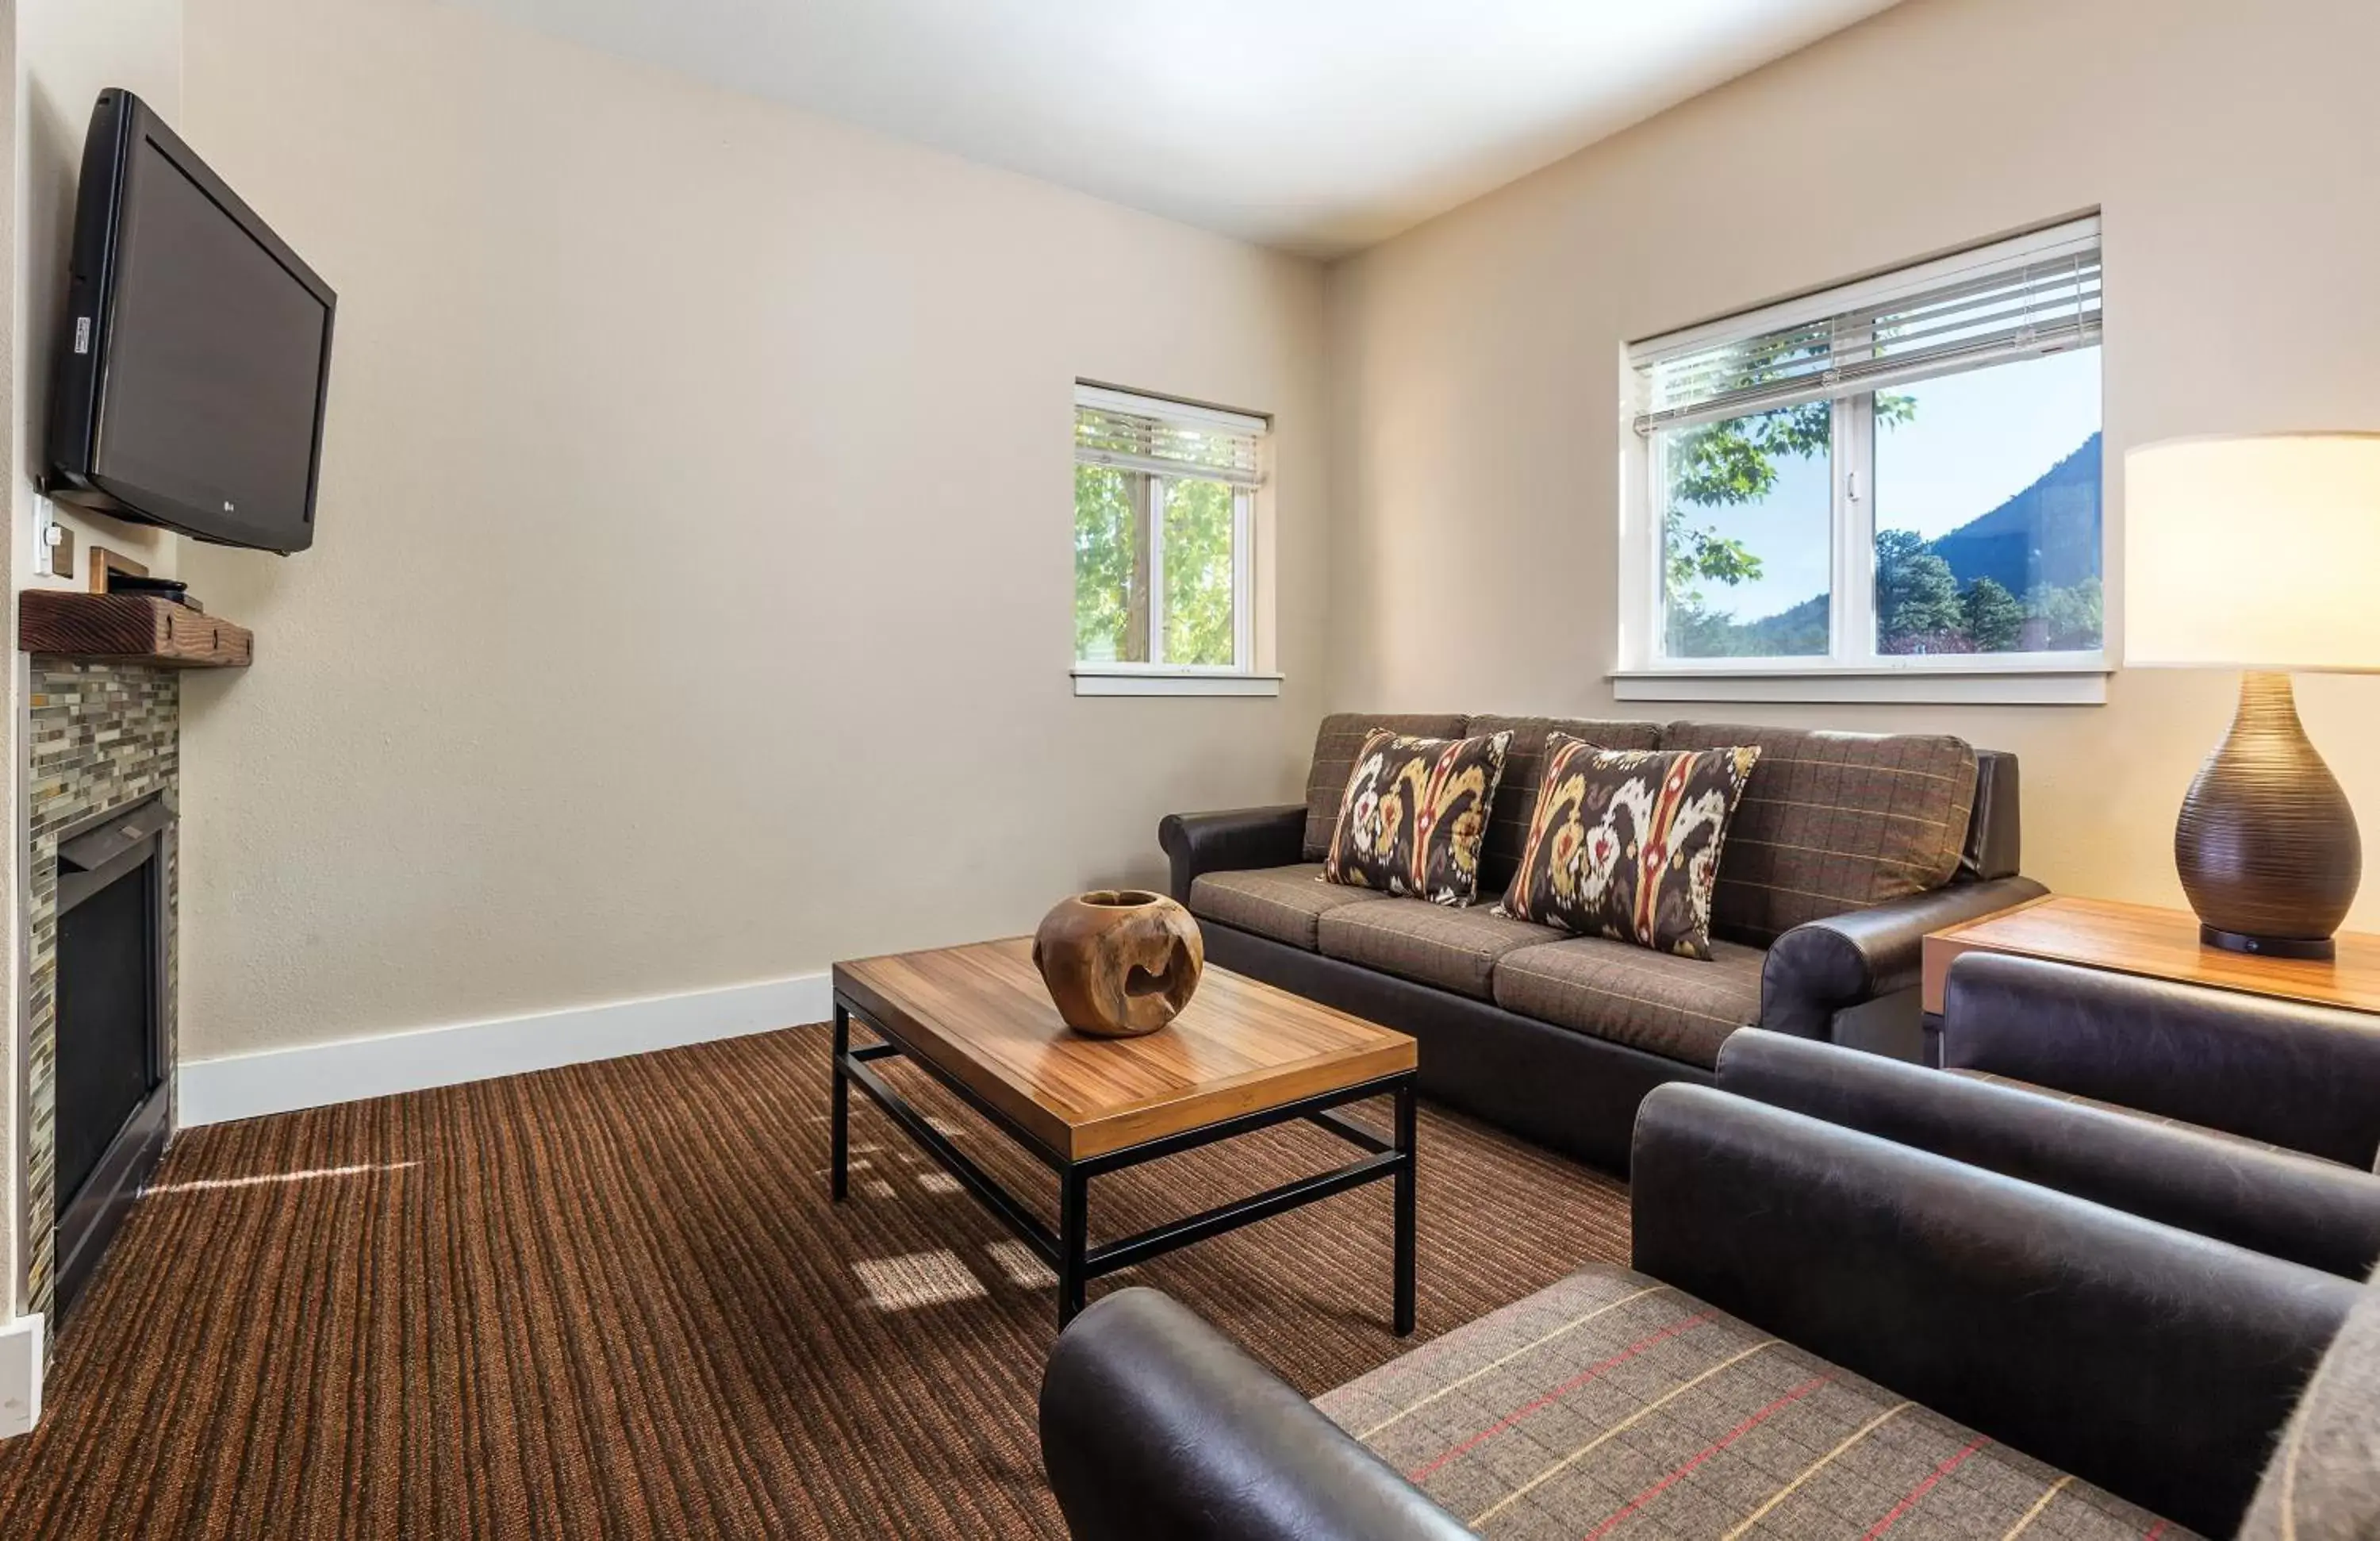
M2047 1143L2075 1115L2035 1112ZM1630 1262L1587 1267L1316 1403L1173 1300L1107 1296L1042 1379L1042 1462L1069 1529L2232 1534L2366 1293L1702 1086L1645 1100Z

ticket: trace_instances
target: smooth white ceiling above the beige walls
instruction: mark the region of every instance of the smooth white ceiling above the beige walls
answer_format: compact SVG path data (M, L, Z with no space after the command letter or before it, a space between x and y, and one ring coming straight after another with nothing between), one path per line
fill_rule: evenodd
M552 36L1338 255L1892 0L462 0Z

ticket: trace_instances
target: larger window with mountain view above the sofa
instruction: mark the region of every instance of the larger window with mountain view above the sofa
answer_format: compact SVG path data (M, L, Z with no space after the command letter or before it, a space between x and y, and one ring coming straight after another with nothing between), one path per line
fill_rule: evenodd
M2099 665L2099 222L1628 350L1621 672Z

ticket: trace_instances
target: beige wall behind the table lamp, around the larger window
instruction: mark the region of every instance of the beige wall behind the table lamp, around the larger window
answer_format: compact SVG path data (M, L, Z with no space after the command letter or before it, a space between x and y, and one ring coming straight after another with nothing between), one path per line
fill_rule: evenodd
M2104 707L1614 707L1618 348L2099 207L2111 467L2380 426L2373 57L2368 0L1911 0L1333 269L1333 705L1947 729L2023 757L2037 876L2180 903L2173 815L2232 676L2121 672ZM2121 495L2116 469L2111 522ZM2380 850L2380 679L2299 698ZM2380 927L2380 881L2351 924Z

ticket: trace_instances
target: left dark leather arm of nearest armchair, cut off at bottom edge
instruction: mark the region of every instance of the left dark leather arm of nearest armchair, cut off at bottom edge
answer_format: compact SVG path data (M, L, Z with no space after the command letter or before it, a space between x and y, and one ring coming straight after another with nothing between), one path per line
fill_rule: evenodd
M1152 1289L1097 1300L1042 1374L1073 1541L1457 1541L1452 1515Z

